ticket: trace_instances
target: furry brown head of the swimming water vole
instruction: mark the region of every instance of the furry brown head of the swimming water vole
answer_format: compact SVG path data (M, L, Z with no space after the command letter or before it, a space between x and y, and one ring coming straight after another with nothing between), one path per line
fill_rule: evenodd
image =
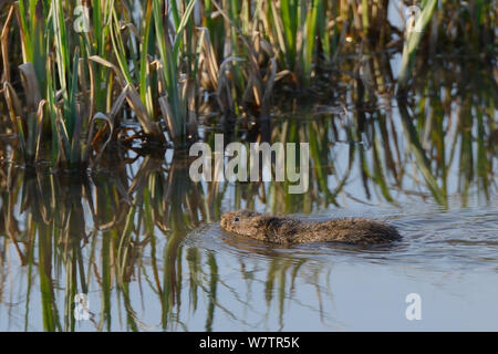
M229 232L258 238L257 236L261 233L261 226L266 222L266 219L264 215L255 211L230 211L221 217L220 226Z

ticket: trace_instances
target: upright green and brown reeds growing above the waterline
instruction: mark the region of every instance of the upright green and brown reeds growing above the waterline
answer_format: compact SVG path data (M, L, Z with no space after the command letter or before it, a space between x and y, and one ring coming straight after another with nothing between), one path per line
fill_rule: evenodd
M387 0L3 0L2 131L25 165L87 167L110 143L185 147L203 117L258 122L291 93L330 102L347 54L404 46L402 92L421 46L495 54L491 1L425 0L411 33L390 7L404 11Z

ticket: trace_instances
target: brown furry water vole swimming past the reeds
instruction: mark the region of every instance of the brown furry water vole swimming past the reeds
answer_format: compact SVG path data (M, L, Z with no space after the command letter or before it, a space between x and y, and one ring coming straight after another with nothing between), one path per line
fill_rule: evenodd
M301 221L291 217L238 210L225 214L220 226L239 236L279 244L328 241L377 244L401 239L393 226L362 218Z

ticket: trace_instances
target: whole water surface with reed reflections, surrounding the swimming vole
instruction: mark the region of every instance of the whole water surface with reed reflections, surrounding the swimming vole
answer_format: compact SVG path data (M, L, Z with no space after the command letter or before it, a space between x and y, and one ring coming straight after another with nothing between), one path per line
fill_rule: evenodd
M496 82L471 61L452 80L463 66L448 60L393 98L395 60L345 61L331 105L242 124L248 140L310 143L305 195L195 184L172 150L108 152L89 176L23 170L2 135L0 330L497 330ZM238 208L387 219L404 239L270 247L219 229ZM404 316L412 292L422 322ZM74 320L77 293L90 321Z

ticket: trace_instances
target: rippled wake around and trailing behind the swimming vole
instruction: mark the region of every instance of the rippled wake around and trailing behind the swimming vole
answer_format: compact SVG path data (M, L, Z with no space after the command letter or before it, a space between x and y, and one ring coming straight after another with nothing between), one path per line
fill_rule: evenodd
M321 212L299 217L325 220L328 215ZM336 212L334 215L338 216ZM392 217L383 219L390 219L398 228L402 241L372 247L332 242L282 247L229 235L214 222L194 230L185 242L216 253L264 261L282 258L318 262L409 263L452 269L485 267L498 270L498 208L495 206L453 211L421 210L412 215L393 212Z

